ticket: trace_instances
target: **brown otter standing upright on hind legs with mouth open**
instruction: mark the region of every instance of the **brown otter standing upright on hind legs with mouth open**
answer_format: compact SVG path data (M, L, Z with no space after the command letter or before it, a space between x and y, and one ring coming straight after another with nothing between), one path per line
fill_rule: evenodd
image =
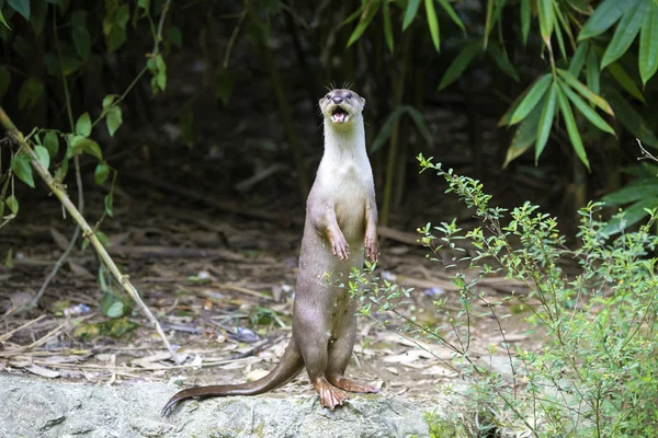
M332 90L320 100L325 154L306 203L293 336L281 361L253 382L180 391L162 415L190 397L262 394L290 381L304 366L320 404L330 410L348 399L343 390L377 392L344 377L356 335L356 300L325 278L347 278L353 267L363 267L364 255L377 260L377 206L365 153L364 106L365 99L351 90Z

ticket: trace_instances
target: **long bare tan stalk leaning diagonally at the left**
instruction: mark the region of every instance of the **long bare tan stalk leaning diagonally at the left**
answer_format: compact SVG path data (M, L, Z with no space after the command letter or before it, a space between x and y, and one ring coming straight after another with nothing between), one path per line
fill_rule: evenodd
M139 297L139 293L137 292L137 289L135 289L135 286L133 286L133 284L131 284L128 275L122 274L121 270L118 270L118 267L116 266L116 264L114 263L114 261L112 260L110 254L107 254L107 251L105 250L105 247L103 246L101 241L97 238L92 228L89 226L89 223L87 222L84 217L82 217L80 211L78 211L78 209L76 208L76 206L73 205L71 199L68 197L66 189L64 189L64 187L59 183L57 183L55 181L55 178L53 178L53 175L50 174L50 172L48 172L48 170L45 169L41 164L41 162L36 158L36 154L34 153L34 149L32 149L32 146L30 145L30 142L27 140L25 140L23 132L21 132L16 128L16 126L13 124L11 118L7 115L7 113L4 112L4 110L1 106L0 106L0 124L2 124L4 129L7 129L7 134L8 134L9 138L12 141L14 141L16 145L19 145L19 147L23 148L23 150L25 150L30 154L30 157L32 158L32 166L34 168L36 173L38 173L38 175L42 177L42 180L48 185L48 187L55 194L55 196L57 196L57 198L59 199L59 201L61 203L64 208L66 208L66 210L68 211L70 217L73 218L76 223L80 227L80 229L82 230L82 235L86 239L88 239L89 242L92 244L92 246L97 251L99 257L103 261L103 263L107 266L107 268L110 268L110 272L112 273L114 278L116 278L116 280L123 287L123 289L131 296L131 298L141 309L141 311L144 312L146 318L149 320L149 322L152 324L152 326L156 327L158 335L160 335L160 337L162 338L162 342L164 343L164 346L167 347L167 350L171 355L171 358L173 359L173 361L175 364L180 365L180 359L179 359L178 355L175 354L175 351L171 348L171 344L169 344L169 339L167 339L167 335L162 331L160 323L158 322L156 316L152 314L150 309L144 303L144 301Z

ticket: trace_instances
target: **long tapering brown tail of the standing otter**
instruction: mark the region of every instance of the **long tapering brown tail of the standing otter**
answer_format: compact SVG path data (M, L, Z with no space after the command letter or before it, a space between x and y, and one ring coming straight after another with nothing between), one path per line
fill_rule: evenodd
M196 387L179 391L169 400L169 402L167 402L162 408L162 415L167 415L167 412L174 404L185 399L224 395L256 395L272 391L297 376L303 367L304 359L302 358L302 353L296 347L295 339L292 338L281 361L268 376L248 383Z

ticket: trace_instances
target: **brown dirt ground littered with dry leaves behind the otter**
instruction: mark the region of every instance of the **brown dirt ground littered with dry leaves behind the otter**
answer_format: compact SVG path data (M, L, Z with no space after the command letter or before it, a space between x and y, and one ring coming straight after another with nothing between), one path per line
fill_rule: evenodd
M23 206L26 211L0 235L5 257L0 267L4 313L0 372L92 384L174 377L185 378L185 384L207 384L256 379L273 368L291 332L302 207L292 210L292 226L281 226L276 220L219 215L198 203L174 199L157 184L126 186L125 192L122 187L117 194L115 219L103 227L112 242L111 254L129 274L184 364L175 366L168 358L155 330L135 307L127 320L137 328L118 338L75 335L80 326L107 321L100 311L102 291L90 249L78 246L71 254L47 288L42 309L12 311L36 293L71 234L58 203L43 198ZM91 194L88 214L100 216L100 205L101 196ZM407 312L417 312L420 322L443 324L445 316L434 310L433 297L447 295L449 308L458 306L447 274L426 258L424 249L411 244L412 233L388 233L396 239L384 242L378 274L415 287ZM521 290L497 278L483 288L492 299ZM121 293L116 285L110 289ZM525 333L523 316L503 320L507 338L536 348L536 339ZM397 334L399 326L393 321L392 330L384 330L375 319L362 319L349 373L388 395L419 400L438 397L442 384L461 382L441 360ZM476 319L472 335L472 351L485 364L504 367L504 357L491 358L487 349L502 342L492 320ZM428 348L450 359L445 347ZM279 391L313 394L305 373Z

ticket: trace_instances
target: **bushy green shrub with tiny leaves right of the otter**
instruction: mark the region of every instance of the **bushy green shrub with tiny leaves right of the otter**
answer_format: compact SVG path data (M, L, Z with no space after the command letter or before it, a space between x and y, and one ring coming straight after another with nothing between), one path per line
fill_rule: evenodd
M410 290L379 281L368 265L350 277L360 312L393 314L396 320L383 324L397 324L402 336L452 351L452 360L436 358L470 382L462 394L467 407L491 414L486 422L479 417L477 434L485 435L478 436L658 436L658 260L653 256L658 238L650 232L657 210L647 210L649 221L637 231L627 230L624 214L617 215L620 232L611 238L608 222L599 218L603 203L590 203L580 210L580 246L569 250L557 221L537 206L492 207L478 181L422 155L418 160L423 171L442 176L446 192L456 194L483 224L467 232L454 220L419 229L429 257L445 264L460 290L434 301L444 323L426 326L406 313ZM466 251L465 242L475 251ZM563 266L574 262L579 273L567 275ZM514 279L526 292L502 300L490 296L478 286L490 275ZM456 311L445 306L455 298ZM501 321L519 306L530 311L526 320L543 341L537 350L513 348L506 338ZM473 351L470 327L481 316L502 339L489 346L489 354L507 357L510 372L504 376Z

